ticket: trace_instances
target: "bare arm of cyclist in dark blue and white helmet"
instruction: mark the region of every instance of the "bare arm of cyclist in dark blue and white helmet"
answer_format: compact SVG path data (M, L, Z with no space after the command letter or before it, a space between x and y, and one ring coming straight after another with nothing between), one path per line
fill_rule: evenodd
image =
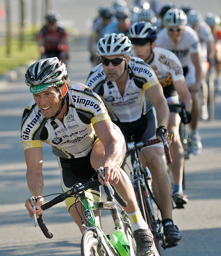
M188 90L187 82L185 78L178 80L178 81L173 81L175 90L178 92L180 98L181 98L181 103L184 102L186 106L186 110L191 112L192 110L192 98L191 94Z

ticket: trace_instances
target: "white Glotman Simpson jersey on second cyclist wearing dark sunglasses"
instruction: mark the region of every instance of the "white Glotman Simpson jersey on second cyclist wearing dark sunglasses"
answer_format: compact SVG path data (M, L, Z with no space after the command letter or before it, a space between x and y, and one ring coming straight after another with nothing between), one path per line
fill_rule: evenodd
M116 82L107 80L101 63L92 69L86 81L86 85L101 96L110 118L118 122L134 122L152 109L145 90L156 84L159 81L152 68L137 57L129 61L123 96Z

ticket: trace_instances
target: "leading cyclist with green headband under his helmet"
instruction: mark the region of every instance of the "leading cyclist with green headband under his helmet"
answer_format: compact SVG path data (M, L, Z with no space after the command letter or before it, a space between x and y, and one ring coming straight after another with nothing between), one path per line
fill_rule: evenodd
M65 64L60 64L57 58L32 64L26 72L26 84L34 99L24 110L21 137L27 183L32 195L40 197L37 215L42 213L44 186L41 143L46 142L57 157L63 192L73 184L86 183L92 176L98 177L102 184L109 181L115 185L128 202L124 209L132 220L136 255L152 255L155 250L152 233L139 211L132 183L120 168L126 152L125 140L117 125L111 122L100 97L84 84L70 83ZM104 182L95 172L99 166L105 167ZM89 198L99 201L99 187L86 193ZM80 202L71 197L66 200L66 206L82 232L84 228L77 213L81 212ZM29 200L26 200L26 208L33 218L35 211ZM95 215L99 221L99 211Z

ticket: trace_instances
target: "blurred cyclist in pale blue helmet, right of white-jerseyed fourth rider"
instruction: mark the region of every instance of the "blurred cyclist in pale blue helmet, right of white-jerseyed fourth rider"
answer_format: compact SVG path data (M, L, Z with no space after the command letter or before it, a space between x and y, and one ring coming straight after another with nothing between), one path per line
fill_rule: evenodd
M205 21L202 20L201 12L198 10L190 10L187 12L187 20L190 27L194 29L199 37L201 43L201 67L202 67L202 89L204 104L202 105L201 118L207 120L207 100L208 100L208 85L207 85L207 71L209 69L210 60L215 58L215 42L212 31ZM207 61L209 60L209 62Z

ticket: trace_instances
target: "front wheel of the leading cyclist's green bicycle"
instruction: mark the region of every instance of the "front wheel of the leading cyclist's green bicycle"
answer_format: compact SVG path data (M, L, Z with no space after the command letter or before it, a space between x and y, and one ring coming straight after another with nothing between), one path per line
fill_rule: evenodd
M80 250L81 256L118 256L117 253L112 252L112 248L109 248L107 253L100 240L96 237L96 234L91 230L86 230L83 233Z

